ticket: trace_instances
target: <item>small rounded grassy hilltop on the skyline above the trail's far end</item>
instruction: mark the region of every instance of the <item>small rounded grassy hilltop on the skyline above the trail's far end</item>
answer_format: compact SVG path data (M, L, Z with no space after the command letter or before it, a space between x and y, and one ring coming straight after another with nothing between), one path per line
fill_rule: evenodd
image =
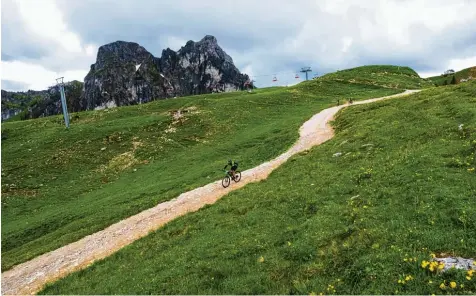
M409 67L391 65L362 66L326 74L319 80L349 81L383 87L420 89L432 87L433 84Z

